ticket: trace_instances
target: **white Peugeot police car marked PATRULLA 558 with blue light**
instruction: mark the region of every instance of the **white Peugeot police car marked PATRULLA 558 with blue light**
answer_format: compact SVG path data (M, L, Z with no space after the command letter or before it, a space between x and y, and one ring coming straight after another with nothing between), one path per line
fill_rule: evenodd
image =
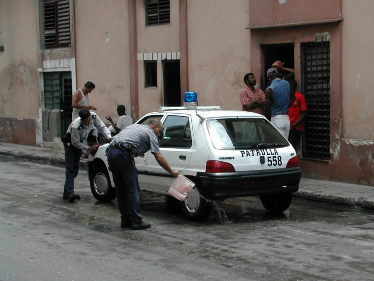
M262 115L198 107L197 94L185 94L184 107L161 107L137 123L159 119L164 126L160 151L173 169L196 186L181 202L194 221L206 219L212 203L230 197L260 196L272 213L286 210L298 191L301 169L294 148ZM89 165L91 191L100 201L115 198L113 179L101 146ZM173 177L147 152L135 158L142 190L168 195Z

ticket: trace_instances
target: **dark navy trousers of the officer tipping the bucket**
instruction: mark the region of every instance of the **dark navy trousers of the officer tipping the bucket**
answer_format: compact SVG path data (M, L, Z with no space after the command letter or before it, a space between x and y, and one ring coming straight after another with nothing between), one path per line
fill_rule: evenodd
M121 220L141 222L138 169L130 157L130 151L110 149L107 159L113 174Z

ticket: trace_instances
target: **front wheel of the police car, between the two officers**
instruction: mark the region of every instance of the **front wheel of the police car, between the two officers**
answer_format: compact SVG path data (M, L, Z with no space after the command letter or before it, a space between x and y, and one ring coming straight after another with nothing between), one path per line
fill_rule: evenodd
M108 171L104 166L94 168L90 177L90 186L92 194L99 201L109 202L116 197L115 189L110 183Z

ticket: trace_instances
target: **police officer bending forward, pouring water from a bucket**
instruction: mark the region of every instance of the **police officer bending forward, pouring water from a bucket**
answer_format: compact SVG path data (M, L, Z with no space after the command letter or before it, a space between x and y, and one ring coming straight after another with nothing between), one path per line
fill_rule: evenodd
M150 150L162 168L175 178L179 174L177 170L172 170L160 153L157 136L160 136L162 131L162 123L152 118L147 125L135 124L126 127L114 136L108 147L107 159L113 174L121 227L131 227L133 230L151 227L149 223L142 221L140 214L138 169L134 157Z

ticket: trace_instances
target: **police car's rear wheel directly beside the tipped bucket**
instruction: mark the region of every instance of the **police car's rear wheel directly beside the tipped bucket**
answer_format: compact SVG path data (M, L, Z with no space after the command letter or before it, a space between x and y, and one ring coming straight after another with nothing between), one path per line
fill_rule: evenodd
M186 199L181 202L182 212L190 221L204 221L212 213L212 202L206 201L202 198L199 190L201 190L200 186L196 183L192 190L187 194Z

